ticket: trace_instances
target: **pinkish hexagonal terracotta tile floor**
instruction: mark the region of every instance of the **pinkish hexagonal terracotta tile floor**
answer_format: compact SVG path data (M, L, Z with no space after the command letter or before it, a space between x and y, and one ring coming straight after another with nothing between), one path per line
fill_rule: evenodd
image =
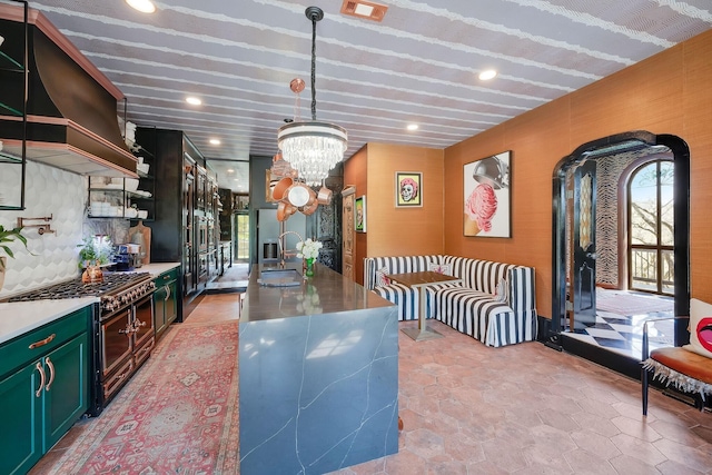
M238 309L239 294L208 295L187 321ZM712 414L652 389L643 417L636 380L540 343L490 348L429 325L444 338L399 334L399 452L339 475L712 474Z

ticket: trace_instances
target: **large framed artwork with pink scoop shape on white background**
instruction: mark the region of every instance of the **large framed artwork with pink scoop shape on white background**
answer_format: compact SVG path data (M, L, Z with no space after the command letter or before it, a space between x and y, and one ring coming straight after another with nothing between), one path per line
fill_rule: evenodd
M464 166L465 236L512 237L511 154L503 151Z

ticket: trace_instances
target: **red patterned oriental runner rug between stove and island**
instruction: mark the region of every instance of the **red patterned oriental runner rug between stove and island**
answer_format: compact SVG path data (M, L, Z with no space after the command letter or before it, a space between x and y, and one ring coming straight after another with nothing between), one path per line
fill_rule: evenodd
M175 325L50 474L236 474L238 324Z

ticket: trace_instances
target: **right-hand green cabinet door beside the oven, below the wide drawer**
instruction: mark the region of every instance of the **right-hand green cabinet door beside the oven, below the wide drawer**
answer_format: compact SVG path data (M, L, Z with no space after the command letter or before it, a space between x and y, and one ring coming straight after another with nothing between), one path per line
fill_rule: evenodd
M89 407L89 344L81 334L43 358L44 444L48 452Z

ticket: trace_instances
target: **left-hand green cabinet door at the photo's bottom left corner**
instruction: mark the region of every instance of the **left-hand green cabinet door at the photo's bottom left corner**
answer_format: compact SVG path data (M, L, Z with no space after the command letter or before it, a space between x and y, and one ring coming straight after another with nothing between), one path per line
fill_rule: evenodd
M38 360L0 380L0 474L24 474L42 456L43 370Z

